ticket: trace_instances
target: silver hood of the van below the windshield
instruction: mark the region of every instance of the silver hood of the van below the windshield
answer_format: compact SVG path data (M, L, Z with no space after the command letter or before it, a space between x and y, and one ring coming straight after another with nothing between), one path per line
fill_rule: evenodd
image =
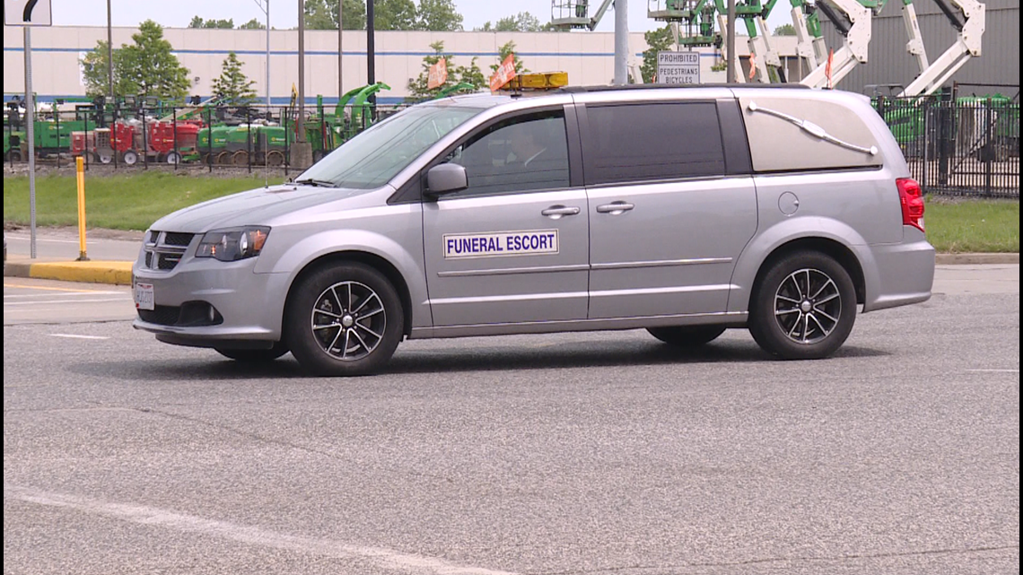
M374 190L282 184L242 191L183 208L157 220L150 229L204 233L246 225L270 225L274 218L306 208L347 203Z

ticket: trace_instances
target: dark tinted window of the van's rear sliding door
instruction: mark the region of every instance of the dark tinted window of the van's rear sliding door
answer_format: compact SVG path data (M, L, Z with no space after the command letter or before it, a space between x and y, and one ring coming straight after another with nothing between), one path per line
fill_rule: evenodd
M586 185L724 174L714 102L587 105Z

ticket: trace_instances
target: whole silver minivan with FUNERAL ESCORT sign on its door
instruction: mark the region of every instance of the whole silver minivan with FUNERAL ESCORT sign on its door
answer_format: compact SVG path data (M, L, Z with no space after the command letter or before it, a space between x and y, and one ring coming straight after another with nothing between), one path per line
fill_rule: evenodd
M413 105L293 182L157 221L134 326L381 370L405 338L746 327L821 358L931 296L920 186L860 95L628 86Z

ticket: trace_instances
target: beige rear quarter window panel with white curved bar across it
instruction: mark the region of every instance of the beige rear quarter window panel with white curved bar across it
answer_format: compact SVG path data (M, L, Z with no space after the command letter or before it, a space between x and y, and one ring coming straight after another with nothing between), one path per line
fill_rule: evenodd
M864 119L843 103L761 95L743 96L739 101L754 172L871 168L884 162L878 140ZM751 109L751 104L757 109ZM814 136L777 114L819 126L829 136L850 145ZM878 151L872 154L851 146Z

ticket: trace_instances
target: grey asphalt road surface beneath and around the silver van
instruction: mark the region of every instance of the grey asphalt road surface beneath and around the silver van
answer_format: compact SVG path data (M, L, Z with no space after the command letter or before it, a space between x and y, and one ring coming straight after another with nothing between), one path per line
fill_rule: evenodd
M352 380L5 279L4 573L1020 571L1018 265L940 268L829 360L631 330L406 342Z

